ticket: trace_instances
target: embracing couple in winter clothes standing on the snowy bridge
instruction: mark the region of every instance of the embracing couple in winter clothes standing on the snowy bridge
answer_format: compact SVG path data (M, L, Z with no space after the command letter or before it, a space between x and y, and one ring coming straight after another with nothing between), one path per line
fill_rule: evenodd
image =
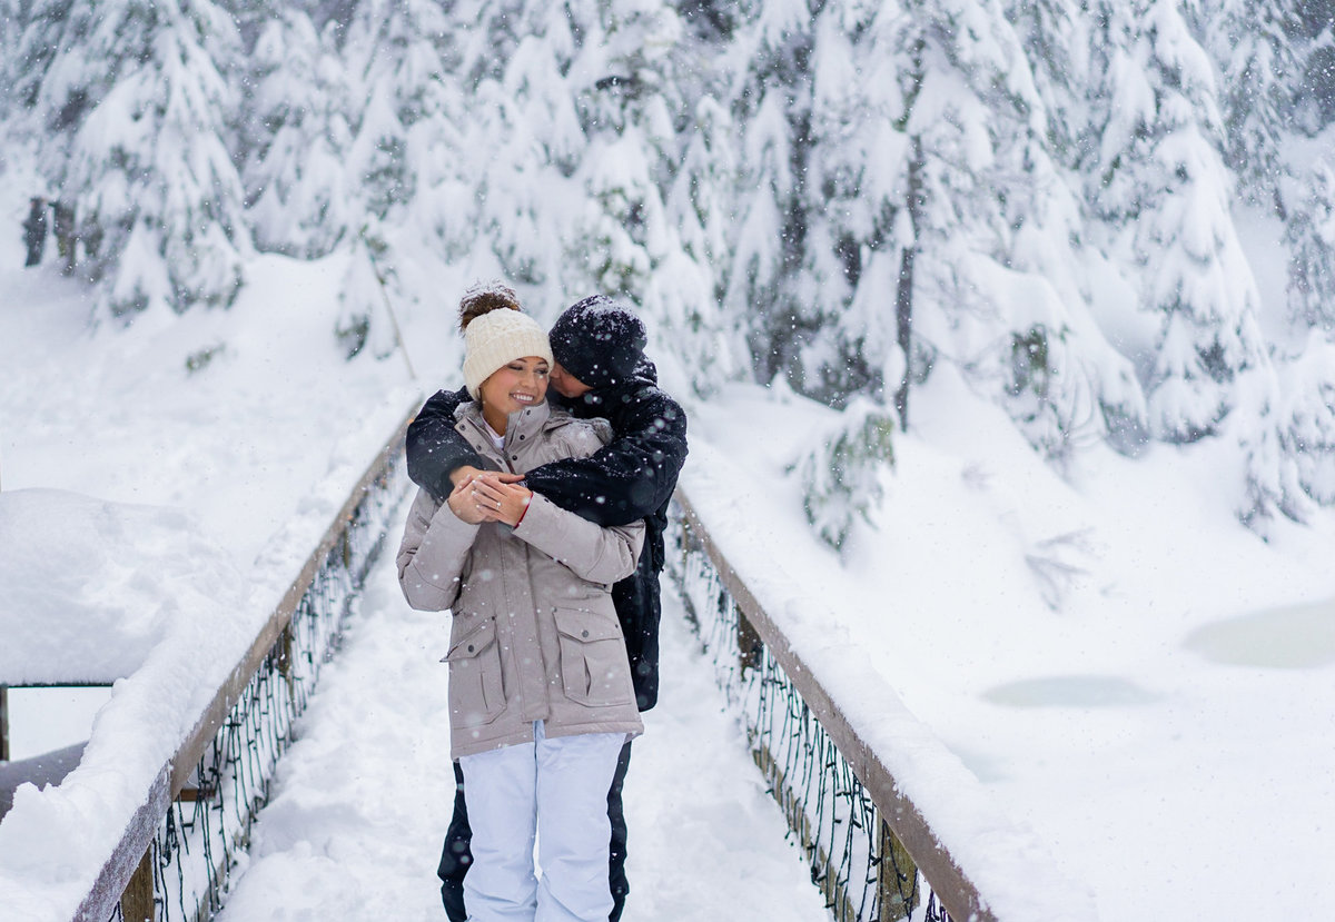
M611 299L574 304L549 336L491 284L459 322L465 390L409 427L421 490L398 552L409 603L453 612L441 894L451 922L615 922L686 418Z

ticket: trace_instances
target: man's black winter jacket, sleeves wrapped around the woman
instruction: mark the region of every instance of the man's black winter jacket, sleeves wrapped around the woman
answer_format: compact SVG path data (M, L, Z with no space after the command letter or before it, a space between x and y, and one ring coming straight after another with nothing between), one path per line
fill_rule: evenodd
M611 588L626 635L639 710L658 701L658 572L663 567L663 528L677 475L686 460L686 414L658 390L653 363L645 360L630 380L597 388L574 400L555 390L547 399L575 416L602 416L613 442L591 458L569 458L529 471L525 484L557 506L601 526L645 520L645 548L634 574ZM454 411L467 391L438 391L409 426L409 476L443 502L450 474L482 460L455 431Z

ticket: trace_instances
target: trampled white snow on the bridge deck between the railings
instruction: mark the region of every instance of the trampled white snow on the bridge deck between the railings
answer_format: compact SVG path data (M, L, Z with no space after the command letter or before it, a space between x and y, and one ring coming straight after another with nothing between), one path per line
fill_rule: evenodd
M402 520L391 527L391 544ZM447 618L403 602L388 558L367 578L344 646L218 922L445 919L435 865L453 806L446 722ZM665 586L662 688L626 779L625 922L825 922L741 730L696 655Z

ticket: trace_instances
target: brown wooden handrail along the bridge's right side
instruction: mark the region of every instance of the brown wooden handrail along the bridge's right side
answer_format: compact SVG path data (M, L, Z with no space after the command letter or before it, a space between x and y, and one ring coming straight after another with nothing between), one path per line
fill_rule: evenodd
M724 587L746 615L752 630L760 635L770 654L784 667L784 672L802 695L812 714L825 727L825 733L842 753L853 769L853 774L862 782L896 838L921 869L951 918L997 922L992 911L985 907L977 887L932 831L926 818L913 805L913 801L900 790L900 785L889 769L876 757L872 747L844 715L844 711L814 679L805 660L792 648L788 638L765 612L746 583L732 568L732 564L728 563L728 558L714 544L709 530L696 514L685 491L678 488L676 498L694 530L694 536L701 542L718 571Z

